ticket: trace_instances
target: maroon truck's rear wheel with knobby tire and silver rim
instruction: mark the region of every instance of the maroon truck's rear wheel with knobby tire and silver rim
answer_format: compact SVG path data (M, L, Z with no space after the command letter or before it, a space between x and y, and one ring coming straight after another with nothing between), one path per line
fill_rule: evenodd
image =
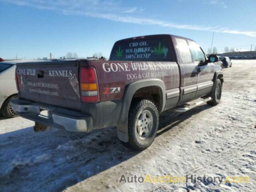
M159 114L154 102L146 99L135 99L128 114L129 141L126 146L134 150L148 148L158 130Z

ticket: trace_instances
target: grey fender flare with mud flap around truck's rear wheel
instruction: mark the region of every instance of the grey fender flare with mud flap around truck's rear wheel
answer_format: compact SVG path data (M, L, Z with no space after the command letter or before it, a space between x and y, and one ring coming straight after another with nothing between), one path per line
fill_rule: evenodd
M123 142L128 142L128 113L130 109L130 105L132 102L132 98L134 93L140 88L149 87L149 86L157 86L160 90L160 105L159 112L164 110L166 96L165 96L165 87L164 82L160 79L145 79L133 82L126 86L124 91L124 98L122 104L121 114L118 120L117 125L117 136Z

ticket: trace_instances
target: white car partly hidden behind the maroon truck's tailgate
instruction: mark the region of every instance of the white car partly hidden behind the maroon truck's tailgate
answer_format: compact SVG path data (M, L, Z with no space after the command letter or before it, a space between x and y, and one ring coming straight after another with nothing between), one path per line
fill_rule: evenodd
M16 63L35 62L35 60L12 60L0 62L0 110L4 117L17 116L12 110L10 100L17 98L15 82Z

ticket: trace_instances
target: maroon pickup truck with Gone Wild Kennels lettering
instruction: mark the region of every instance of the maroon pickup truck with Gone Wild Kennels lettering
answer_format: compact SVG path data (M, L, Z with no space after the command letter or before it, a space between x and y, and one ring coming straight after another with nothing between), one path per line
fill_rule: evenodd
M19 99L12 108L35 121L35 130L116 127L123 143L143 150L156 136L161 112L220 102L223 73L218 62L188 38L164 34L119 40L108 61L17 64ZM202 99L187 104L197 98Z

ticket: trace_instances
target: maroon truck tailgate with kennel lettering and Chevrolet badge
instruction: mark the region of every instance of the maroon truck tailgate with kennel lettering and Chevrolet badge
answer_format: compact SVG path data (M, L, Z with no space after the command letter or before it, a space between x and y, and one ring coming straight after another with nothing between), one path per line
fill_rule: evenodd
M78 61L17 64L20 98L80 110Z

